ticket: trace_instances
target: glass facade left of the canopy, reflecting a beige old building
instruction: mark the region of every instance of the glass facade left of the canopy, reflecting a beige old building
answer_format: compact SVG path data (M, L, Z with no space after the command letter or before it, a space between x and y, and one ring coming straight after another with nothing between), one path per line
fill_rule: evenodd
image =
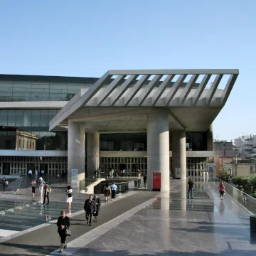
M0 149L67 150L68 132L48 132L58 110L0 110Z

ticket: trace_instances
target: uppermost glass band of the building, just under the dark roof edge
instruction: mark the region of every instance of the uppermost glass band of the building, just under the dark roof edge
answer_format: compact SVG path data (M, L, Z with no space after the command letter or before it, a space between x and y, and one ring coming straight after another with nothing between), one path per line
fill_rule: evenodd
M0 102L69 101L81 88L92 84L0 82Z

